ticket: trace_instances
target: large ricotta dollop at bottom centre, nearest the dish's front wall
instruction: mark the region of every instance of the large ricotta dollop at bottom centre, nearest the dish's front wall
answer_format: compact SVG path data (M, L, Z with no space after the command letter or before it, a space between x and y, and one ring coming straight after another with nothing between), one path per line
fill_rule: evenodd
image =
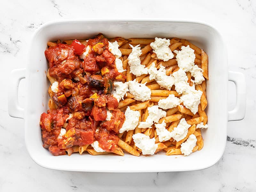
M136 147L140 148L142 155L154 155L156 152L157 144L156 139L153 137L150 139L148 135L143 133L136 133L132 135L132 139Z

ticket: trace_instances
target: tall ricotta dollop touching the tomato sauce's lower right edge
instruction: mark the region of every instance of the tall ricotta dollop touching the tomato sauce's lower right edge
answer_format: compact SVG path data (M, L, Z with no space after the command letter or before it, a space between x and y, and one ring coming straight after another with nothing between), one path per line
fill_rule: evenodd
M120 133L124 131L134 130L137 127L139 123L140 112L133 111L130 109L130 107L127 107L124 113L124 116L125 116L125 121L121 129L119 130Z

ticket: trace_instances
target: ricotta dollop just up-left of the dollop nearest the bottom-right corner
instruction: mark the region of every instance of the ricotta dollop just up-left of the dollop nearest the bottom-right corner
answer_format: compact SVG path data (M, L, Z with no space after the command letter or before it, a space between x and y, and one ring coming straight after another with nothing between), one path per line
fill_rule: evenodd
M176 141L184 139L188 134L189 127L191 127L191 125L187 123L185 118L182 118L178 126L174 127L173 131L171 132L172 138Z

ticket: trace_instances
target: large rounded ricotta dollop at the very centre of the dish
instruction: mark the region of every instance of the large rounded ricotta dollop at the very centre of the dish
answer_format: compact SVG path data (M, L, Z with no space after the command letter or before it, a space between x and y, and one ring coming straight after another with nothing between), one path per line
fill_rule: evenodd
M129 81L129 92L134 96L137 101L150 100L151 90L146 86L146 84L141 84L134 79Z

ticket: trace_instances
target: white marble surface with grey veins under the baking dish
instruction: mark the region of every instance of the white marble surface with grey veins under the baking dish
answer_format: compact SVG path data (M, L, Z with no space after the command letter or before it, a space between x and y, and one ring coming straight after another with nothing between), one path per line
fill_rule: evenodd
M256 1L70 2L0 2L0 191L255 191ZM25 147L24 120L8 115L5 82L12 69L25 67L29 39L36 28L50 20L72 18L191 19L215 26L227 44L229 70L244 73L247 83L246 116L228 122L227 146L220 161L201 171L129 174L55 171L34 163ZM228 91L232 109L236 102L232 83ZM24 106L23 81L19 101Z

